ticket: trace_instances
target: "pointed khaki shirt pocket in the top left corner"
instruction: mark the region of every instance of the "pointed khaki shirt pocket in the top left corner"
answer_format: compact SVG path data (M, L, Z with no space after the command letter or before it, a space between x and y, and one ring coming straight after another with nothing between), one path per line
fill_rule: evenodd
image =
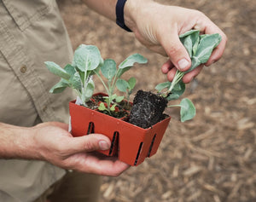
M15 20L21 31L44 18L53 6L55 0L2 0L3 5Z

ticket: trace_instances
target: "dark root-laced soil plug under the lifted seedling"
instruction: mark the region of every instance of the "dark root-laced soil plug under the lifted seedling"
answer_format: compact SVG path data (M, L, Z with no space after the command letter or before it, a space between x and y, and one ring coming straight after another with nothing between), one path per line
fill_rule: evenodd
M166 115L163 113L167 103L166 98L162 96L138 90L133 100L129 123L147 129L166 118Z

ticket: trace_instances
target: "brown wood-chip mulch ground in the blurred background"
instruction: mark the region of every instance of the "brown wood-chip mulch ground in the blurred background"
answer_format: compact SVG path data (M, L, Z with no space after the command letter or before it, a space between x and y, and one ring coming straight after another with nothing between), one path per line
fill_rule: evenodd
M73 49L93 44L118 63L140 53L148 65L126 75L137 78L137 89L154 89L166 81L160 72L166 58L79 0L59 2ZM256 201L256 2L172 3L201 10L224 30L229 38L224 57L187 85L185 96L195 103L196 117L181 123L177 109L167 110L172 120L158 153L119 177L103 177L100 201Z

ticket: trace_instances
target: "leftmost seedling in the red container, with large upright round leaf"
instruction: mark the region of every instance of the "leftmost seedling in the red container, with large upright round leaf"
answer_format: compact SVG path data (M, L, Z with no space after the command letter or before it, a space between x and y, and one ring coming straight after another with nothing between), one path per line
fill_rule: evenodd
M49 92L61 93L67 87L73 88L79 97L80 104L86 106L95 89L92 75L103 64L99 49L92 45L80 45L74 52L72 65L68 64L64 69L52 61L44 63L50 72L61 77L61 81Z

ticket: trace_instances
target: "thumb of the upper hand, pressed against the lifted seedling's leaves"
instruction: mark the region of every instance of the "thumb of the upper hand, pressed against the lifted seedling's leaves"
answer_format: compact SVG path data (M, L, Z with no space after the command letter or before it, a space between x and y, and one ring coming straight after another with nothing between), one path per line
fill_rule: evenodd
M161 43L170 61L178 70L182 72L189 70L191 66L189 54L176 33L168 35L168 38L163 39Z

